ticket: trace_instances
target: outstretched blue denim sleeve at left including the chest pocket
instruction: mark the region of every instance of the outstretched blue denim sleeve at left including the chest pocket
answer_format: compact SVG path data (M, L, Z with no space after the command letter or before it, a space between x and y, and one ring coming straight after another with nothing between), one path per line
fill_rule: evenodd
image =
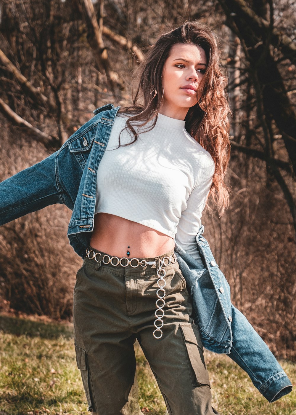
M93 117L46 159L0 183L0 225L54 203L73 210L97 130Z

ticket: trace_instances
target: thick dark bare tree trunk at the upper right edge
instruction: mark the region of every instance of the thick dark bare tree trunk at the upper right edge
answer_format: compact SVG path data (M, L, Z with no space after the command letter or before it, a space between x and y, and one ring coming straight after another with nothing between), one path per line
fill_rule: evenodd
M272 1L218 0L226 14L226 24L243 46L247 74L252 83L257 119L262 128L263 151L269 179L276 180L289 206L296 232L296 200L289 176L296 181L296 112L289 90L294 83L283 62L296 61L296 45L293 39L281 31L274 19ZM296 6L290 5L296 12ZM291 9L289 12L291 13ZM250 85L249 85L250 87ZM281 171L281 159L277 154L277 139L284 142L291 173ZM237 137L235 137L237 138ZM240 147L235 146L237 149ZM255 156L250 146L250 155Z

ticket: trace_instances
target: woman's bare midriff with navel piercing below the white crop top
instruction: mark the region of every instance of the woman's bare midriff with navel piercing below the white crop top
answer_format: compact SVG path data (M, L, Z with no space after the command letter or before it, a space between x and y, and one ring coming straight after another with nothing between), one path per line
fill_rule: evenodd
M90 246L119 258L150 258L172 251L175 242L173 238L141 223L100 212L95 215Z

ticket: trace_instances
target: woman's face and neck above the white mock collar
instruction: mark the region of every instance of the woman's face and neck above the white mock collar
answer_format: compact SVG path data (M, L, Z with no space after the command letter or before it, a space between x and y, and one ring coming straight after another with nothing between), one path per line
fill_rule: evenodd
M161 114L184 120L189 108L200 98L197 90L207 63L206 53L200 46L182 43L172 46L163 67Z

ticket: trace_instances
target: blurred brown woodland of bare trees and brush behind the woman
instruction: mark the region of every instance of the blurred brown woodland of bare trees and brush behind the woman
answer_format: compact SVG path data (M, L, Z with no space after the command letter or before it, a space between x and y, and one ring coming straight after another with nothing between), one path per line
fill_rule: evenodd
M133 69L184 20L215 32L233 111L230 208L219 218L209 206L204 236L234 305L296 359L294 0L0 0L0 180L56 151L95 108L131 103ZM0 310L71 319L70 215L53 205L0 228Z

